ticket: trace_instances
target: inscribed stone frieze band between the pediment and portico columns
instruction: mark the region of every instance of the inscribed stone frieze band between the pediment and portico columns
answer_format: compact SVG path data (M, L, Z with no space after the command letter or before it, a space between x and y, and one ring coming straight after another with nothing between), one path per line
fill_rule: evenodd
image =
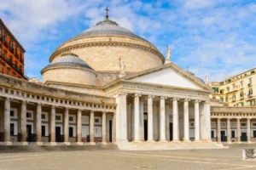
M205 93L189 92L177 89L166 89L166 88L154 88L141 85L124 84L124 88L136 88L140 90L149 90L154 92L172 93L172 94L186 94L186 95L205 95Z

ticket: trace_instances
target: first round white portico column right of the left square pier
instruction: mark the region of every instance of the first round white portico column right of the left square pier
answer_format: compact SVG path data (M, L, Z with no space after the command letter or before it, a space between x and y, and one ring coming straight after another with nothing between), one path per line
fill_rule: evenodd
M140 94L134 94L134 142L141 142L140 138Z

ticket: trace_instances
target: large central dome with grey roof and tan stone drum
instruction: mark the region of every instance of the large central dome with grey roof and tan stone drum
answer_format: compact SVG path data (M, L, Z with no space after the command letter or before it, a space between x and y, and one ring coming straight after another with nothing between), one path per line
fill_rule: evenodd
M108 17L62 43L50 56L50 63L67 51L77 54L97 73L104 74L119 74L120 60L125 63L126 73L160 66L165 60L151 42L119 26Z

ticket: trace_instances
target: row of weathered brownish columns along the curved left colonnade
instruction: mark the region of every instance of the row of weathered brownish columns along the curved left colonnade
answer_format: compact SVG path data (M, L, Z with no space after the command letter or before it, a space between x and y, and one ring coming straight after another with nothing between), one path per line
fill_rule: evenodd
M20 142L21 144L26 145L26 101L21 101L21 109L20 109ZM50 121L49 121L49 142L52 145L55 145L55 105L50 106ZM94 139L94 113L95 111L90 111L90 144L95 144ZM64 111L64 144L70 144L69 142L69 108L65 108ZM4 121L3 121L3 143L6 145L12 144L10 140L10 99L4 99ZM77 136L77 144L83 144L82 142L82 110L77 110L77 122L76 122L76 136ZM107 144L107 111L102 111L102 144ZM113 118L114 118L113 113ZM114 123L114 120L113 120ZM42 145L42 104L36 103L36 143L38 145ZM113 127L113 129L115 129ZM112 133L112 132L110 132ZM114 138L114 136L113 136ZM114 141L114 139L113 139Z

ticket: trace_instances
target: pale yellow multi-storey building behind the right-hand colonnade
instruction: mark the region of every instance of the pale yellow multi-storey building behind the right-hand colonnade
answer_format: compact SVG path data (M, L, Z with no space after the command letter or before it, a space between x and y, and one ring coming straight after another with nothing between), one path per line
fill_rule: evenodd
M256 96L256 68L242 72L235 77L224 79L223 82L211 82L212 99L219 99L229 106L253 106Z

